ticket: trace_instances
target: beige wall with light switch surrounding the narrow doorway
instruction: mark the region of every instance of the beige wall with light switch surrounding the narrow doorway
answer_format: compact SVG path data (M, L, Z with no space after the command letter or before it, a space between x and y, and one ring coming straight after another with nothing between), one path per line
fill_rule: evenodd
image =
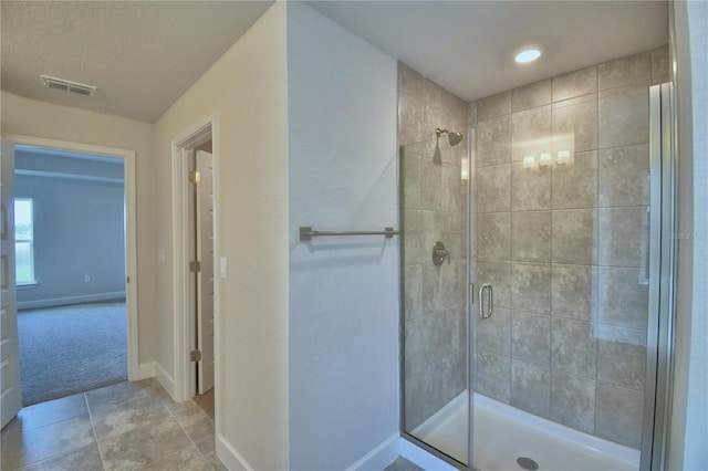
M171 254L171 143L216 112L218 255L229 271L219 280L217 441L238 453L233 467L269 470L289 469L285 8L275 2L157 121L154 180L157 247ZM168 255L158 270L159 363L168 374L173 263Z

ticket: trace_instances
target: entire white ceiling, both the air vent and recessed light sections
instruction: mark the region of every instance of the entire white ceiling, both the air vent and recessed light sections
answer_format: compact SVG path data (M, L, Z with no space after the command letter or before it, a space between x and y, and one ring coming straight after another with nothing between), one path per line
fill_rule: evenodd
M0 3L1 86L155 122L271 1ZM466 101L667 43L666 1L310 1L322 14ZM513 50L545 54L519 67ZM325 45L323 45L325 46ZM93 98L40 74L98 87Z

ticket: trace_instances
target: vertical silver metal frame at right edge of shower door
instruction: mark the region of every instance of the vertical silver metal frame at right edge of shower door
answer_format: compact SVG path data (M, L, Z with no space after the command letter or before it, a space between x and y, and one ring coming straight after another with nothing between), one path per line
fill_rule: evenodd
M675 95L671 83L649 87L649 304L639 470L667 465L673 390L676 285ZM658 217L654 217L658 214ZM658 248L658 250L656 249Z

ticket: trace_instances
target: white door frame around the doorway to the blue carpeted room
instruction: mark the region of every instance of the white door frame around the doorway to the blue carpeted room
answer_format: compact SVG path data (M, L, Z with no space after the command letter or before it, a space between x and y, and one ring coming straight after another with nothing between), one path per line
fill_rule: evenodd
M123 185L125 188L125 304L128 341L128 380L140 379L137 325L137 210L136 210L136 166L135 150L116 147L71 143L23 135L2 135L12 144L21 146L46 147L73 153L94 154L123 159Z

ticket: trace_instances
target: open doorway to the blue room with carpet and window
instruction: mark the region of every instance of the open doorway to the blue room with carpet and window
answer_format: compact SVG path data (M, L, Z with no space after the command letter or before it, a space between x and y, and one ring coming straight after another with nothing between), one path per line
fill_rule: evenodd
M10 138L22 405L134 378L135 154Z

